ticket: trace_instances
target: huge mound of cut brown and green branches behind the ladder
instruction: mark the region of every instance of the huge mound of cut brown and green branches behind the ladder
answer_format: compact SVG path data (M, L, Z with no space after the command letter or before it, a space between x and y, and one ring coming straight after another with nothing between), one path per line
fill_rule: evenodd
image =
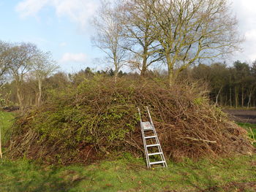
M212 158L254 150L246 131L210 104L205 86L107 77L52 91L15 121L8 153L49 163L143 155L138 107L148 106L166 158Z

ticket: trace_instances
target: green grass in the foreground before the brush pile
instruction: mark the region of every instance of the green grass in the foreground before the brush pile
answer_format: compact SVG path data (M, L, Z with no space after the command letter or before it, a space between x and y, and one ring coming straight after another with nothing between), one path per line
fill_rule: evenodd
M4 113L6 132L12 115ZM243 125L246 126L246 125ZM0 161L0 191L256 191L256 155L168 162L146 169L143 159L101 161L91 166L45 166L26 159Z

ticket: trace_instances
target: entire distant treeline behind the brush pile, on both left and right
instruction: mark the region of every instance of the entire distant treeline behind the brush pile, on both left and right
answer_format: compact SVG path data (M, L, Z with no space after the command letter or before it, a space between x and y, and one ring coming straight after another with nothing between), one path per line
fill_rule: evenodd
M167 72L157 70L146 73L149 78L167 78ZM67 86L78 86L80 82L97 75L113 77L113 69L94 72L89 67L75 74L58 72L42 81L42 101L52 90ZM136 72L118 72L118 76L140 78ZM211 100L221 106L230 107L255 107L256 106L256 61L252 65L236 61L232 66L225 63L211 65L199 64L185 69L179 77L180 80L200 80L206 82L210 88ZM26 77L22 94L24 106L37 104L37 81L33 77ZM0 91L1 107L18 105L15 81L4 84Z

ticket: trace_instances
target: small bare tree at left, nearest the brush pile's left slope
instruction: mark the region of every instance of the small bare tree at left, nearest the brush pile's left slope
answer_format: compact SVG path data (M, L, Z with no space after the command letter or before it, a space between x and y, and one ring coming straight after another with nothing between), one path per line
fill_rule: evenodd
M56 61L53 61L52 55L50 52L39 52L35 55L32 61L32 72L31 74L37 80L37 105L41 103L42 99L42 80L48 77L50 74L53 74L59 66L56 65Z

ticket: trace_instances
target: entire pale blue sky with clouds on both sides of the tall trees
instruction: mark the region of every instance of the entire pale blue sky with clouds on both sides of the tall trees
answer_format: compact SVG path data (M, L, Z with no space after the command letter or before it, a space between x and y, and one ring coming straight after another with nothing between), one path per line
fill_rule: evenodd
M256 59L256 1L232 0L239 29L246 41L243 53L234 53L229 62ZM103 53L91 45L94 30L90 20L98 0L0 0L0 40L32 42L51 51L61 70L74 72L90 66L104 68L96 58Z

